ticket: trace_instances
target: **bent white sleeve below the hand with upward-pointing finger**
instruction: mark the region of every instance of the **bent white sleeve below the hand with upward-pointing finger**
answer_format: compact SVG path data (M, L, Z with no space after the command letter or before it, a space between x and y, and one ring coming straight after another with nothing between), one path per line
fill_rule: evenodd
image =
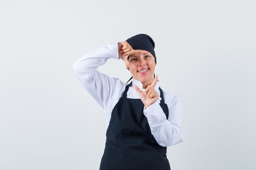
M169 116L166 119L166 115L157 102L144 109L151 133L161 146L172 146L183 141L182 99L176 96L168 110Z

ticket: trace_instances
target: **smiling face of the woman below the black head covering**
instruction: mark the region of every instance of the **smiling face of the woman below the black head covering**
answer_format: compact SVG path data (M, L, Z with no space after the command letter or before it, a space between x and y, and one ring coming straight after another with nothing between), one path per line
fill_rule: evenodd
M132 77L142 84L151 84L155 71L155 58L146 50L134 50L128 57Z

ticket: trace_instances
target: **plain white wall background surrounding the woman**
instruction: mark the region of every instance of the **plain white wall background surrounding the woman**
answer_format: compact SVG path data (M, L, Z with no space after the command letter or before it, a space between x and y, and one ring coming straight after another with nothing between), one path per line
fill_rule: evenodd
M98 170L104 112L72 65L145 33L161 87L183 99L172 170L256 169L253 0L0 0L0 170ZM122 60L99 71L123 82Z

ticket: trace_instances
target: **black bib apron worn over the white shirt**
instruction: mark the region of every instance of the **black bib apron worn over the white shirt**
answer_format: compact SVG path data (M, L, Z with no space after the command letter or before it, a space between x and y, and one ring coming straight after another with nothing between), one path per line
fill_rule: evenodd
M151 133L141 99L127 98L128 84L112 110L100 170L171 170L166 147ZM160 106L168 119L168 106L159 87Z

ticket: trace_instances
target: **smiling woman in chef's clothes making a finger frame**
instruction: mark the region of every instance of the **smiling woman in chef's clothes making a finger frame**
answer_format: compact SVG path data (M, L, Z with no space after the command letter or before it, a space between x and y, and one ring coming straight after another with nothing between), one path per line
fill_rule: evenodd
M153 77L154 48L149 35L138 34L94 49L73 65L83 87L105 110L100 170L171 170L166 147L183 141L182 99L162 91L158 75ZM110 58L125 62L130 84L97 71Z

